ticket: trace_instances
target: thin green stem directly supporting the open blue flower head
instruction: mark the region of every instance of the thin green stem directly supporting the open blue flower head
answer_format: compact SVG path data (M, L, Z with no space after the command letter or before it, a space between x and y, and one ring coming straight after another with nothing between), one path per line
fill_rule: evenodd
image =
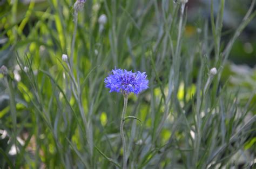
M124 137L124 116L126 113L126 108L127 108L127 102L128 102L128 96L127 94L124 94L124 109L122 112L122 119L121 119L121 124L120 124L120 134L122 138L122 143L123 143L123 169L126 169L126 144L125 144L125 137Z

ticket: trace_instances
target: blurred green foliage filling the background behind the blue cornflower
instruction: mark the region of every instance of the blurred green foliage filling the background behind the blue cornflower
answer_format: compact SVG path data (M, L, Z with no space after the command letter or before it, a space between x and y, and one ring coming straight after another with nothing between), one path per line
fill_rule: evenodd
M225 1L220 51L225 49L241 24L251 2ZM123 153L119 139L122 96L109 94L103 83L104 77L115 66L146 71L150 80L150 89L139 97L130 96L127 107L129 114L143 121L142 124L136 121L126 124L131 167L190 168L191 165L211 168L209 164L213 157L218 164L212 162L212 168L218 168L219 164L219 167L227 164L227 168L228 165L249 165L249 159L255 157L255 122L252 127L245 126L250 130L249 134L242 131L246 136L244 139L232 136L236 136L238 129L244 129L241 126L246 124L245 121L255 119L256 114L255 17L235 40L227 62L221 65L220 82L213 80L211 92L201 101L203 112L209 111L212 115L201 118L203 121L209 118L204 121L208 131L201 131L204 134L195 161L197 152L193 148L197 148L198 142L192 140L194 132L197 137L197 125L193 121L199 102L196 96L206 83L207 71L218 61L211 34L211 1L189 0L186 4L180 77L175 81L174 94L167 104L164 102L170 91L169 69L175 62L170 46L171 43L174 49L178 46L180 2L86 1L84 10L78 15L74 63L76 77L84 84L82 98L86 118L91 124L89 128L93 131L90 134L99 151L87 146L90 137L83 129L78 106L68 89L70 79L64 73L65 66L61 61L63 53L70 56L71 52L74 3L69 0L0 2L0 65L6 65L10 75L6 80L1 75L0 83L0 166L6 168L16 161L16 166L24 168L115 168L102 156L105 153L107 157L121 161ZM213 1L215 18L219 4L220 1ZM98 18L103 13L107 23L101 32ZM170 28L172 42L167 28ZM205 55L207 62L202 57ZM10 89L11 86L14 89ZM157 126L169 106L171 116L163 130L157 133ZM225 120L218 111L227 112ZM179 115L183 113L186 117ZM186 131L186 127L191 131ZM17 143L8 142L16 140L13 139L15 134L21 139L18 141L19 153L13 146ZM216 142L212 143L214 137ZM225 140L227 143L232 140L232 146L222 151ZM221 153L215 157L214 150L221 150ZM89 152L93 153L92 157ZM240 161L232 159L234 154Z

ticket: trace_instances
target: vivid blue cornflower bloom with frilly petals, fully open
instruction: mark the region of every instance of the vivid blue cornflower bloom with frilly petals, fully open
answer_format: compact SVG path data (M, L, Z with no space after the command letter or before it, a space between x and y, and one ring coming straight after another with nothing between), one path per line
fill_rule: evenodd
M146 72L136 72L114 69L112 74L105 78L104 82L110 92L122 92L123 94L138 94L149 86L149 80L146 79Z

